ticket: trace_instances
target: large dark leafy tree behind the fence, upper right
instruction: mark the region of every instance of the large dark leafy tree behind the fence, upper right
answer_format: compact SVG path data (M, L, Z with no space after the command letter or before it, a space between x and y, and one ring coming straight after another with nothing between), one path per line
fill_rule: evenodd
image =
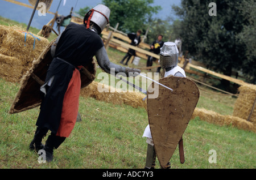
M247 59L245 42L237 40L247 21L240 10L245 0L216 1L217 16L209 15L210 2L183 0L181 7L172 6L182 19L178 34L183 40L183 50L188 50L196 60L225 75L230 76L232 69L246 72L243 68ZM222 84L229 87L229 82L225 80Z

